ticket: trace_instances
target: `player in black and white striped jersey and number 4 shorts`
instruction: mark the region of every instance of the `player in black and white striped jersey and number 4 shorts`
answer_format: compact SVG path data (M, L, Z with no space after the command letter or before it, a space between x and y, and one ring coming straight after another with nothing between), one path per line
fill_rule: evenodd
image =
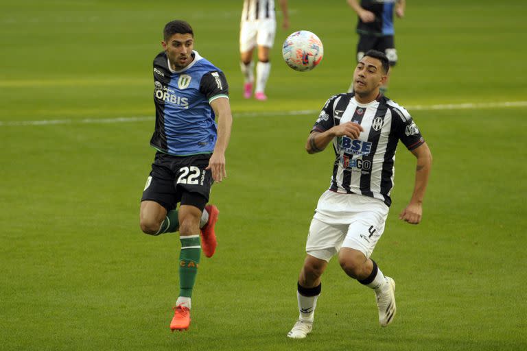
M290 338L304 338L312 330L320 277L334 255L348 276L375 291L381 326L393 322L395 282L370 257L392 203L395 149L400 140L417 158L412 197L399 215L411 224L421 221L432 154L410 114L379 93L388 65L384 53L366 52L353 74L355 93L328 99L307 138L309 154L332 143L336 158L331 185L309 227L296 293L300 315Z

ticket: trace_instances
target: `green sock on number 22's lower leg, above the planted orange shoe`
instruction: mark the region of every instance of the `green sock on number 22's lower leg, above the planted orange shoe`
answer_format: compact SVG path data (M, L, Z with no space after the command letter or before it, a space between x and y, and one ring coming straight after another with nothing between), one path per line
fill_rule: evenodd
M181 252L179 253L179 295L190 298L196 282L198 265L200 263L200 236L190 235L180 237Z

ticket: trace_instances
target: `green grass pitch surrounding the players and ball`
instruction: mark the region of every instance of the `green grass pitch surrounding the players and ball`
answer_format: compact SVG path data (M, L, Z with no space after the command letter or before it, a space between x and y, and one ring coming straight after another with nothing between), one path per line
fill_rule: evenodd
M316 110L349 86L357 36L344 0L289 3L264 103L242 99L241 0L1 3L1 350L527 348L524 3L408 1L388 96L409 107L434 166L423 222L401 223L414 158L399 146L393 206L373 253L397 282L397 317L381 328L373 293L333 260L301 341L285 335L333 160L330 149L310 156L303 147ZM190 330L173 334L178 236L142 234L138 213L154 156L152 59L175 18L225 71L234 125L229 178L211 195L218 252L202 259ZM281 62L281 43L297 29L325 45L309 73ZM445 104L473 105L430 107ZM290 113L298 110L314 112Z

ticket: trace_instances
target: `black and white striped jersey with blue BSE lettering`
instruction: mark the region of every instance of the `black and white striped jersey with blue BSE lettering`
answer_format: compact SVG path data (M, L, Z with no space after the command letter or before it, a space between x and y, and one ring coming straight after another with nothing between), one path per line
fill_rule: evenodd
M425 141L405 108L379 95L360 104L353 93L333 95L318 115L312 132L325 132L346 122L362 125L358 139L333 138L336 160L329 190L381 199L390 206L394 185L395 149L399 140L409 149Z

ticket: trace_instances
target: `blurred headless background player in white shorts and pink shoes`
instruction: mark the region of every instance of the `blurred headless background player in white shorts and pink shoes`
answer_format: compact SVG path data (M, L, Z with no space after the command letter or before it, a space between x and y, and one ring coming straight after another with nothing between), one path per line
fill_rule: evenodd
M288 1L279 0L282 10L282 27L289 27ZM258 47L258 63L256 64L255 99L267 99L265 90L271 63L269 51L274 43L277 32L274 0L244 0L242 21L239 29L240 67L244 74L244 97L249 99L253 94L255 84L253 50Z

